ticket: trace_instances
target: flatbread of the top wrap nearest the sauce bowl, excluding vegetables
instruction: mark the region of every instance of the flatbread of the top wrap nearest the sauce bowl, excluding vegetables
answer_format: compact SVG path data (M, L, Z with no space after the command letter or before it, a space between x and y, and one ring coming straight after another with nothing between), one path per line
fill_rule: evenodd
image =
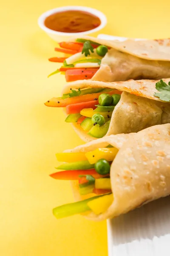
M170 39L119 42L89 36L81 38L111 47L93 80L113 82L170 77Z

